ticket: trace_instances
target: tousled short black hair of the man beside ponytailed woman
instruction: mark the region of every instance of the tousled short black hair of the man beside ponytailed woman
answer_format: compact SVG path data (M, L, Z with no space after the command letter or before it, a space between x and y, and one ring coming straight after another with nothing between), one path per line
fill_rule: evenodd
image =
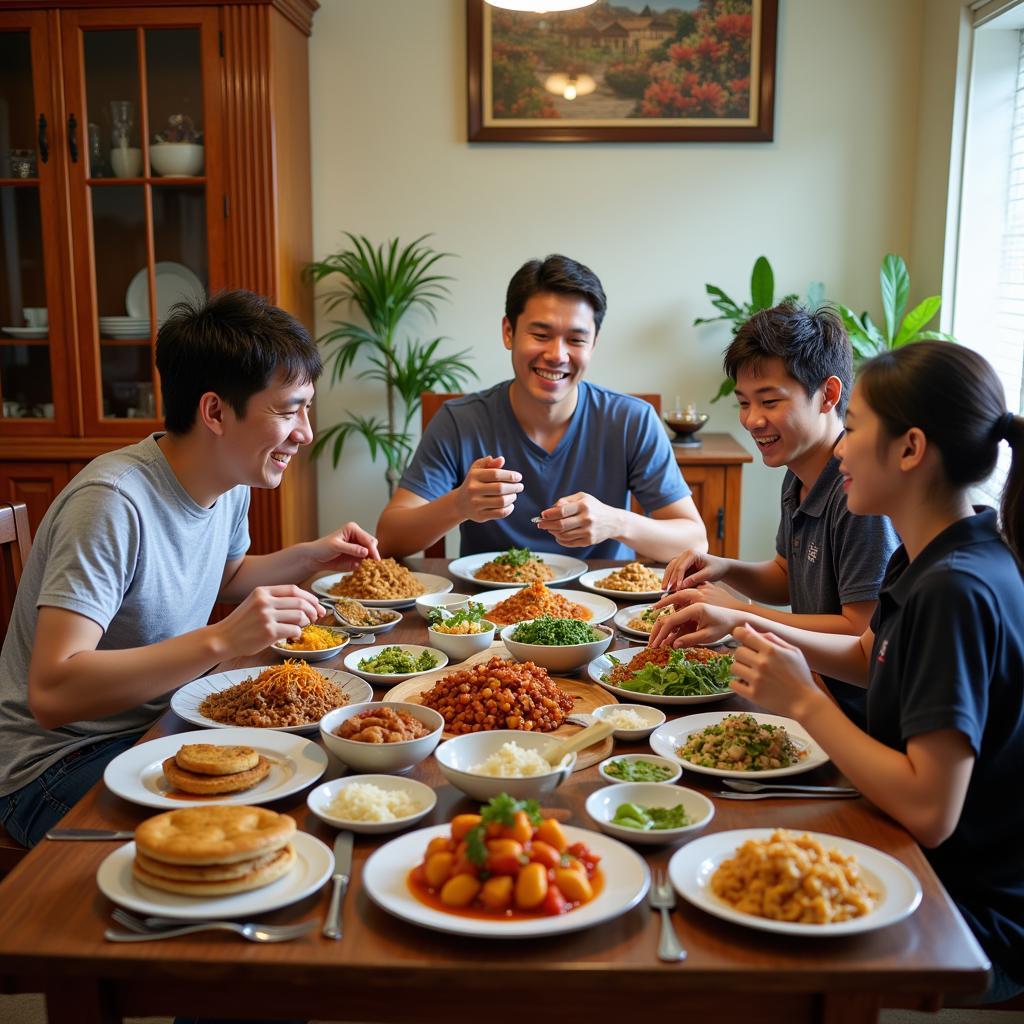
M765 359L779 358L810 398L829 377L843 382L836 411L842 419L853 387L853 349L840 317L827 307L808 309L781 302L761 309L736 332L722 366L733 381L744 367L754 374Z

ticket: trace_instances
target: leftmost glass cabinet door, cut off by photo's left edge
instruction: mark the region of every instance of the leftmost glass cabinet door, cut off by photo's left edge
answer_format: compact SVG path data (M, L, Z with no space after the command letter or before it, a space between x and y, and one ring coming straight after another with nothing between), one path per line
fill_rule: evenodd
M69 433L75 395L58 276L51 40L45 13L0 13L0 433Z

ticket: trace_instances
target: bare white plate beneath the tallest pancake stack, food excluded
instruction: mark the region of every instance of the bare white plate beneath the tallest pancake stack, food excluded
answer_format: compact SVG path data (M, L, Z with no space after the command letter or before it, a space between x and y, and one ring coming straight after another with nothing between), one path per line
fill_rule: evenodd
M134 843L125 843L103 860L96 871L96 885L113 903L138 913L181 921L252 918L305 899L331 878L334 854L318 839L306 833L296 833L292 846L295 848L295 866L276 882L247 893L203 899L201 896L152 889L138 882L131 872L135 859Z

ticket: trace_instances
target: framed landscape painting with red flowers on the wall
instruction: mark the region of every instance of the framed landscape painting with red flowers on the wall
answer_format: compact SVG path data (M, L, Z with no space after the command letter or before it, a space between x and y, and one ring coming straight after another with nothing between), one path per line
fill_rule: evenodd
M767 142L778 0L466 0L471 142Z

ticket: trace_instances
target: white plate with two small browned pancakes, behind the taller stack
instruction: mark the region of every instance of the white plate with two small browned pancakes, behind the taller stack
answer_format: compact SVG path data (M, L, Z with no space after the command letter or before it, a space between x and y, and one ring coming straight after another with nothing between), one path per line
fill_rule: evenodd
M273 729L197 729L132 746L103 772L111 793L143 807L268 804L315 782L324 749Z

